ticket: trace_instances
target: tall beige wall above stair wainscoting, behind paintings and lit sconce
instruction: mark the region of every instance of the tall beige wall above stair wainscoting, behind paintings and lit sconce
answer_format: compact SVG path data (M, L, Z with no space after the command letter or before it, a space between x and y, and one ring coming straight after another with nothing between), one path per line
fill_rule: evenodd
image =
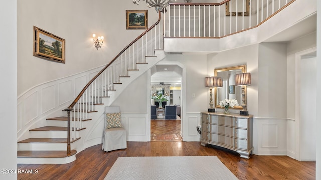
M125 27L126 10L139 9L148 10L148 27L157 21L158 13L144 2L17 0L18 95L44 82L107 64L144 31ZM33 26L66 40L66 64L32 55ZM93 33L105 37L99 50L93 46Z

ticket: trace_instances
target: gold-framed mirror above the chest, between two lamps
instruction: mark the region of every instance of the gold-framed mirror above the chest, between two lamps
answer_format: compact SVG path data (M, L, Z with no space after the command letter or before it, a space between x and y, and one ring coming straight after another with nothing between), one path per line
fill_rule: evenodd
M214 76L223 78L223 87L214 89L214 105L215 108L224 108L219 105L220 101L224 99L236 99L239 106L234 106L230 109L242 110L242 89L241 86L235 86L234 76L239 73L246 72L246 65L239 65L233 67L224 67L214 69ZM246 97L246 86L245 86L245 97Z

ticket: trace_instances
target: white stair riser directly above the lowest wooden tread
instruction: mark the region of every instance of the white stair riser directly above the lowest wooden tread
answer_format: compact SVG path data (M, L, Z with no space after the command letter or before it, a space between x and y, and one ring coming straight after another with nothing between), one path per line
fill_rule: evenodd
M70 144L71 149L75 149L76 142ZM42 150L67 150L67 143L18 143L19 151L42 151Z

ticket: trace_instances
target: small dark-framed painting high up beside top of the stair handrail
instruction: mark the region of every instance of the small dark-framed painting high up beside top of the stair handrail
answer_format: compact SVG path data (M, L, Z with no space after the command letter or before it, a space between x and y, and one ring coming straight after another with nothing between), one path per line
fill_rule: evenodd
M126 10L126 29L147 29L148 10Z

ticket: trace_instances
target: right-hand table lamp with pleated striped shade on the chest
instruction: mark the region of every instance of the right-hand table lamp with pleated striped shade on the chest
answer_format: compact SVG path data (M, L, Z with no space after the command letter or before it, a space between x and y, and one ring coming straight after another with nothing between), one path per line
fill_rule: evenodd
M251 73L240 73L235 75L235 86L242 86L242 110L240 115L249 115L245 100L245 86L251 85Z

